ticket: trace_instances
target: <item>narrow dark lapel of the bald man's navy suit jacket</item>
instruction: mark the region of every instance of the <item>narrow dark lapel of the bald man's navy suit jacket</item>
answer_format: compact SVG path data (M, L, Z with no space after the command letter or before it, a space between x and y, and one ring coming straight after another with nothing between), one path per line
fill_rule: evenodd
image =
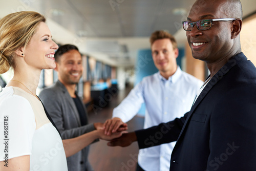
M186 118L186 121L182 127L182 130L180 132L180 135L178 137L177 142L179 141L181 135L184 132L184 129L188 123L189 118L192 116L192 114L194 113L195 109L197 108L197 106L200 104L200 102L204 99L204 97L206 96L206 94L211 90L212 87L215 86L215 84L217 84L217 82L219 80L221 80L223 78L223 76L225 74L228 73L228 71L236 66L238 63L242 62L242 61L246 61L247 58L245 57L245 55L241 52L239 54L237 54L236 56L231 57L228 62L209 80L209 82L206 84L205 88L203 89L203 91L200 93L199 97L197 98L197 100L195 101L194 105L191 107L191 110Z

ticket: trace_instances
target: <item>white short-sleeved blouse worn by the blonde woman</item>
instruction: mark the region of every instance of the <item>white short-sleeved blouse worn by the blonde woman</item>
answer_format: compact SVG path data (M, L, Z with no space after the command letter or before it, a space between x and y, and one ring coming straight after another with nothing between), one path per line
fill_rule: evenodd
M24 155L30 155L30 170L68 170L61 137L42 103L7 87L0 93L0 161Z

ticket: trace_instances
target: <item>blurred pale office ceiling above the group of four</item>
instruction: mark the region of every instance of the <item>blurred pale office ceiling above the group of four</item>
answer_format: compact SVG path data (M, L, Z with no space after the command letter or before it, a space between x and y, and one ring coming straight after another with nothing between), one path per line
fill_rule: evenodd
M255 0L241 0L244 16ZM0 17L34 10L47 17L53 39L114 66L133 66L138 49L149 49L155 30L174 34L184 46L181 22L194 0L0 0Z

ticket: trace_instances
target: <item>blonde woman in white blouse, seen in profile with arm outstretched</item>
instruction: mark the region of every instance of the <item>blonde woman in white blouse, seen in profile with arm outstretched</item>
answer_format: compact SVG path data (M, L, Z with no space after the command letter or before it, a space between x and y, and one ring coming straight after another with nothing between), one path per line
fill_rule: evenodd
M41 70L55 68L58 48L45 22L44 16L33 11L0 20L0 73L14 69L0 93L0 170L68 170L66 157L97 138L121 135L110 137L95 130L61 140L35 94Z

